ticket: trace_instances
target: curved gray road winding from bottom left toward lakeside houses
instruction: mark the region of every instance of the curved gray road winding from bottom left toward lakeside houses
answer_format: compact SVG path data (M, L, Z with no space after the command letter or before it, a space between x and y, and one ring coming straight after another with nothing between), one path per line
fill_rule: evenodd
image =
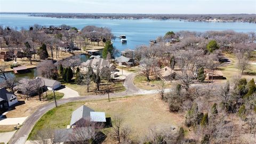
M125 92L121 93L110 93L110 98L115 97L125 97L127 95L134 95L136 93L141 93L142 90L138 90L136 86L133 84L133 79L136 74L130 74L126 77L124 86L126 87ZM143 92L142 92L143 93ZM151 93L151 92L150 92ZM152 91L152 93L155 93ZM88 95L86 97L75 97L75 98L67 98L67 99L60 99L57 101L58 105L65 104L67 102L73 101L84 101L84 100L91 100L91 99L106 99L108 98L107 94L104 95ZM46 103L45 105L39 107L32 115L30 115L26 121L23 123L23 126L18 130L11 138L9 143L25 143L30 131L33 129L36 122L41 118L47 111L55 107L54 102Z

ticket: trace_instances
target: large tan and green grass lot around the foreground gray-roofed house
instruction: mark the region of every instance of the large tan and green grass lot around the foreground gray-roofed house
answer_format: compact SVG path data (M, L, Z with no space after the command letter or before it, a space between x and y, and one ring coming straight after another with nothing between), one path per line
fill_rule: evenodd
M163 129L169 126L181 126L181 122L184 120L182 114L170 113L167 103L160 100L157 95L113 98L110 102L107 99L70 102L53 108L43 115L34 126L28 139L33 140L33 136L38 130L49 127L52 129L65 128L70 123L72 112L82 105L95 111L104 111L106 117L123 116L124 125L128 125L133 130L133 138L145 137L152 127Z

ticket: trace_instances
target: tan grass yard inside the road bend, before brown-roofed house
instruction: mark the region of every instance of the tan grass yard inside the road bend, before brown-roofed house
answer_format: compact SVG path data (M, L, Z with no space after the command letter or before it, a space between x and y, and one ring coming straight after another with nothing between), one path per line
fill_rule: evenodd
M152 79L150 82L147 81L147 78L141 74L134 77L134 85L139 89L143 90L156 90L159 89L158 86L161 85L161 80ZM166 84L166 88L171 88L171 84Z

